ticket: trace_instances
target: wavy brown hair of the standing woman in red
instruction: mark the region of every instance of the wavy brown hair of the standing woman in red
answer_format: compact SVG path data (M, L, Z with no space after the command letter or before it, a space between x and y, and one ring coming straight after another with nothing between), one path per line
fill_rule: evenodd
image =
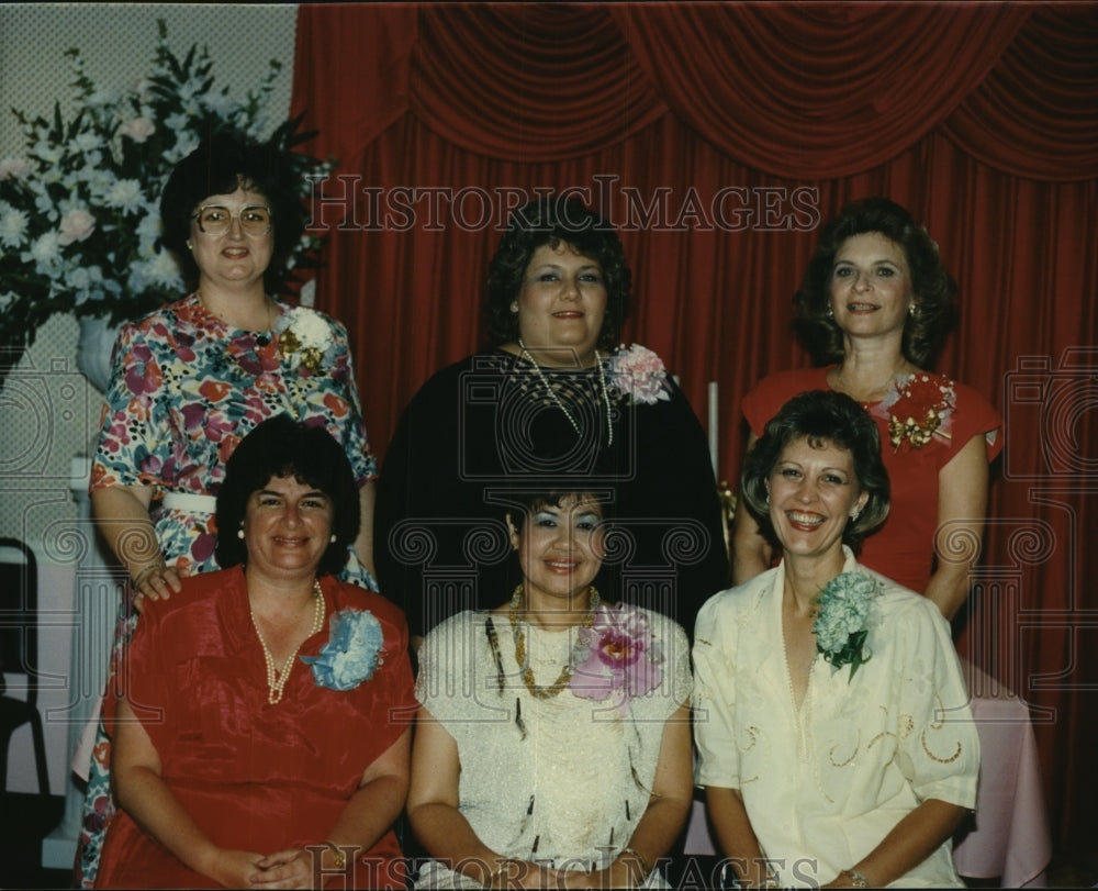
M842 360L842 331L828 315L834 258L853 235L878 232L904 250L911 274L915 314L904 326L904 357L926 368L956 322L956 282L950 277L930 233L895 201L865 198L848 204L820 232L800 289L793 298L794 331L817 365Z

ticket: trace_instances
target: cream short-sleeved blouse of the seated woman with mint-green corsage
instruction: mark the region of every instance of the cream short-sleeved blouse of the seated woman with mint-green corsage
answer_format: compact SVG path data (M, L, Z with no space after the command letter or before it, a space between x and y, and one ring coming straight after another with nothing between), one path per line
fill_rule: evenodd
M738 789L782 887L849 869L927 799L973 808L979 740L950 628L926 598L879 586L872 656L854 673L818 656L798 710L782 634L784 568L698 613L694 734L698 786ZM895 883L963 887L951 842Z

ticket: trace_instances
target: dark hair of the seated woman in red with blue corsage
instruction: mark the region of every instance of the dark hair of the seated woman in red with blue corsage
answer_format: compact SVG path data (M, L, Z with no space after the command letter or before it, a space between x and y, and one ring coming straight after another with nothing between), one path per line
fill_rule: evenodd
M247 561L247 544L236 533L244 523L248 500L274 477L294 477L332 500L336 541L321 557L318 571L338 573L361 522L355 471L347 453L327 430L300 423L288 414L276 414L256 426L225 465L225 481L217 492L217 563L229 567Z

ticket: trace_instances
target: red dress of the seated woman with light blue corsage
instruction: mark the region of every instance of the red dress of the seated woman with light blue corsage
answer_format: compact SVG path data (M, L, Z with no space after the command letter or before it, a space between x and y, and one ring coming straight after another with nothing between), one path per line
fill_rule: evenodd
M322 579L328 616L369 610L383 660L348 691L320 687L295 660L281 702L267 701L267 669L239 567L186 578L150 601L130 644L122 684L161 760L161 776L219 846L259 854L316 845L367 767L415 713L407 625L379 594ZM328 627L301 656L315 656ZM348 857L348 864L351 858ZM404 864L390 829L354 860L351 888L401 888ZM99 888L215 888L146 835L125 811L111 824Z

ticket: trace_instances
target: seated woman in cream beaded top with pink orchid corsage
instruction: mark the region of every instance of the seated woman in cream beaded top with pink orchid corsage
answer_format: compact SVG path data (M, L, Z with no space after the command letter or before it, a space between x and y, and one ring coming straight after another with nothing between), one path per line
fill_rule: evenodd
M407 813L434 859L416 887L661 887L691 802L685 633L592 587L594 495L522 511L513 595L424 642Z

